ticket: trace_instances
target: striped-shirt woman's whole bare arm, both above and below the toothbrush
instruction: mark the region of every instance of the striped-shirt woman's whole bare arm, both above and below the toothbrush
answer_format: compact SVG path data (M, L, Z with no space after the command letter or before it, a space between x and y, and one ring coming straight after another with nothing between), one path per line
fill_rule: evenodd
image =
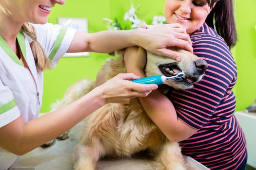
M146 54L142 48L128 48L125 52L127 72L145 77L143 72L146 63L145 58ZM191 128L177 117L173 103L158 89L147 97L140 97L139 101L150 119L170 141L181 141L197 132L197 129Z

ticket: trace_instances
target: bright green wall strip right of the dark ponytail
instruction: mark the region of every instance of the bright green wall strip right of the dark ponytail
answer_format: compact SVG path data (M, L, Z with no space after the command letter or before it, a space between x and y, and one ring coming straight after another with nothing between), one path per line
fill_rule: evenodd
M236 110L244 110L256 99L256 0L236 0Z

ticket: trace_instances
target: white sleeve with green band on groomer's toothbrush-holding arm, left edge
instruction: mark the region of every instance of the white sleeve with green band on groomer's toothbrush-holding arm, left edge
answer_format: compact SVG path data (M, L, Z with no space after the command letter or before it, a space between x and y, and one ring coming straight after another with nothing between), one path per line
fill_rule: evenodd
M0 127L20 117L12 91L0 80Z

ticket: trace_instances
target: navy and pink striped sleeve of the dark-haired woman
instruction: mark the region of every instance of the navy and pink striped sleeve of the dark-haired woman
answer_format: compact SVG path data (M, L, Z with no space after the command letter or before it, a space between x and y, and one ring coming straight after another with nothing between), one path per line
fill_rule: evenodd
M194 54L208 63L203 79L189 90L172 90L168 98L177 116L192 128L200 129L214 114L229 86L236 80L236 63L220 37L204 35L193 42Z

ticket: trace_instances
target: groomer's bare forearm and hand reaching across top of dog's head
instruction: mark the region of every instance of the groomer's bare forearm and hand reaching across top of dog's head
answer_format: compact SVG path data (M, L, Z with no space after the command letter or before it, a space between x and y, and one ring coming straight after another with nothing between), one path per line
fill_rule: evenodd
M68 52L112 52L138 45L147 51L176 59L179 54L168 47L178 46L193 51L189 35L179 24L166 24L150 29L102 31L98 33L77 32Z

